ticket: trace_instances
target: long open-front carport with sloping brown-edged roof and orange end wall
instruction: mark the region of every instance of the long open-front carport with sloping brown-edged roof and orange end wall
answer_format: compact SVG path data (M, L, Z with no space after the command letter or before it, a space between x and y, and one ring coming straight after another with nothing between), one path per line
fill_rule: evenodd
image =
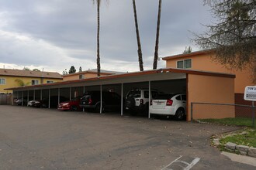
M60 103L61 95L71 99L75 95L85 93L85 89L98 89L102 92L102 90L109 89L110 87L119 91L121 95L120 114L123 116L123 97L125 97L126 91L133 87L130 86L131 84L148 88L149 93L151 89L161 86L161 89L165 92L176 92L177 90L177 92L187 93L187 121L190 121L191 102L234 103L234 78L235 76L232 74L165 68L28 87L16 87L8 90L13 90L14 97L29 91L33 92L34 98L48 95L50 99L50 93L55 93L58 96L58 103ZM178 85L174 85L177 82L179 82ZM39 92L40 95L38 94ZM203 116L207 117L207 115ZM148 113L148 117L150 118L150 113Z

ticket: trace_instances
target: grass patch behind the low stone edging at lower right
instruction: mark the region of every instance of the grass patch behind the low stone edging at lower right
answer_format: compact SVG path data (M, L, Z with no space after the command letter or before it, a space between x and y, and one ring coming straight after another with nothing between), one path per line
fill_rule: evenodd
M253 129L245 129L243 133L228 135L220 139L222 145L226 145L227 142L256 148L256 131Z

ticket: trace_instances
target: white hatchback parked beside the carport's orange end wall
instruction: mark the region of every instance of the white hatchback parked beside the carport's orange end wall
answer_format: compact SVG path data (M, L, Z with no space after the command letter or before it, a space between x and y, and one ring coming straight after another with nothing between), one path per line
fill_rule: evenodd
M182 120L186 114L185 93L158 94L150 105L150 114L163 114L175 116L176 120Z

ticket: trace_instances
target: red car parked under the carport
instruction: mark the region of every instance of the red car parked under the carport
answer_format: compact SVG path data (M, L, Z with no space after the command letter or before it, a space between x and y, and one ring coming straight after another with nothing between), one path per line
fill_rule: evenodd
M71 110L71 111L77 111L81 110L81 107L79 106L81 97L75 97L72 100L61 102L61 104L57 105L58 110Z

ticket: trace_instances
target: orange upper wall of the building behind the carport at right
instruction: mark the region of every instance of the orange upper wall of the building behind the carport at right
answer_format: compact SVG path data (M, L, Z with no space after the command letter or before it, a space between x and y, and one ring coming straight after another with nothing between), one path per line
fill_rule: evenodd
M211 59L210 54L201 54L198 56L190 56L190 57L182 57L176 59L168 59L166 61L167 67L177 66L177 61L182 59L192 59L192 70L203 70L203 71L211 71L211 72L219 72L219 73L232 73L236 75L235 79L235 93L244 93L244 88L246 86L254 85L251 83L251 70L230 70L225 66L213 61Z

